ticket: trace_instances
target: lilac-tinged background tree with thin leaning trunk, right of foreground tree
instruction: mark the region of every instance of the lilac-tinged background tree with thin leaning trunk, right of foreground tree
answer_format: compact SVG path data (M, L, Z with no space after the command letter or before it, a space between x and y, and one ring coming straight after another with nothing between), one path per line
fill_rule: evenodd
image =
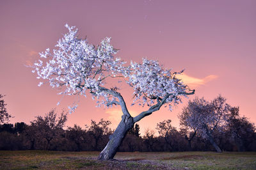
M226 99L221 96L214 98L211 102L196 97L193 101L189 100L179 117L185 125L195 128L203 138L208 139L217 152L221 152L212 132L217 130L217 127L221 130L221 127L227 123L229 108Z

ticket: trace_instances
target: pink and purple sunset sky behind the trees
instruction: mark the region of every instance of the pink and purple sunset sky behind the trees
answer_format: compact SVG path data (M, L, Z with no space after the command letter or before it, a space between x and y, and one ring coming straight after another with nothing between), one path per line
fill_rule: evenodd
M221 94L228 104L256 123L256 1L0 1L0 93L12 116L10 123L35 120L52 108L67 109L67 126L84 127L90 120L120 121L119 107L95 107L84 97L62 97L47 84L38 87L31 65L38 52L67 33L66 23L79 29L79 36L97 45L106 36L120 49L116 56L127 62L157 59L174 71L185 69L182 79L196 89L195 96L212 100ZM147 108L130 107L132 89L120 87L132 116ZM56 105L61 100L60 105ZM179 127L177 114L160 111L139 122L141 132L171 119Z

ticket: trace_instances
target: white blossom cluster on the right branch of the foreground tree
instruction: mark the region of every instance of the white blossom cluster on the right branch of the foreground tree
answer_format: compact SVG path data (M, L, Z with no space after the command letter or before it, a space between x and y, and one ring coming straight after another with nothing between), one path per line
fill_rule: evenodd
M182 70L183 72L183 70ZM165 104L169 105L172 110L172 104L180 102L179 95L186 91L186 85L180 79L175 77L182 72L172 72L172 69L163 68L158 61L143 59L142 63L131 62L131 71L127 83L134 89L134 103L139 101L142 105L151 106L156 103L157 99L161 100L166 95ZM173 98L174 97L174 98Z

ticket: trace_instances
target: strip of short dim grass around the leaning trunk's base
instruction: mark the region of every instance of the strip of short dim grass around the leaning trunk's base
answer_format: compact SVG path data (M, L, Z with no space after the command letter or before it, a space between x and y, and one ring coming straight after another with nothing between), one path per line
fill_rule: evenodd
M256 169L256 152L127 152L99 161L97 151L0 151L0 169Z

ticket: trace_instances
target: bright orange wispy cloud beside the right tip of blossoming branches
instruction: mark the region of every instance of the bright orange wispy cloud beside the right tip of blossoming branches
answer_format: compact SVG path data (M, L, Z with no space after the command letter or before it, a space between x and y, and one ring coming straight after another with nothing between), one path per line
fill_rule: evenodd
M200 78L191 77L189 75L186 75L185 73L182 73L180 75L177 75L177 77L179 79L182 79L184 84L188 84L190 87L195 88L195 87L204 85L209 81L217 79L218 75L208 75L207 77L204 77L203 79L200 79Z

